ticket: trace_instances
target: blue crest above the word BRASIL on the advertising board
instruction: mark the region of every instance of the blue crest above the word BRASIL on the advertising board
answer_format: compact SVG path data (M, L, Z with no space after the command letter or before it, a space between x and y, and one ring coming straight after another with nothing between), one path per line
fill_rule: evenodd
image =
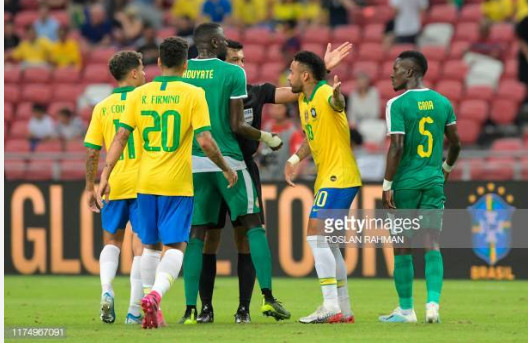
M495 184L478 187L477 195L469 196L473 251L494 266L510 252L511 217L515 207L513 196L506 194L504 187L495 189ZM496 191L496 192L495 192Z

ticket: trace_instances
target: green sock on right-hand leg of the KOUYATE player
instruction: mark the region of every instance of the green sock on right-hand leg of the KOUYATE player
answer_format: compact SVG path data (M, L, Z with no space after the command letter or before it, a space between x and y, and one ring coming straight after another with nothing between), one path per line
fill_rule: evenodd
M251 260L257 272L260 289L271 291L271 252L268 245L266 231L262 227L255 227L247 232Z

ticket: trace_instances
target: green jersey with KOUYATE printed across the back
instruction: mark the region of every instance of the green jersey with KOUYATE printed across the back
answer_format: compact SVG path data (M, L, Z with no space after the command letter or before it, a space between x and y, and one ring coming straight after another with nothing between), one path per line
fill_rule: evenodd
M229 100L247 97L244 69L218 58L192 59L189 60L183 79L205 90L211 119L211 132L222 154L242 161L242 152L231 130ZM192 154L205 156L196 139L193 143Z

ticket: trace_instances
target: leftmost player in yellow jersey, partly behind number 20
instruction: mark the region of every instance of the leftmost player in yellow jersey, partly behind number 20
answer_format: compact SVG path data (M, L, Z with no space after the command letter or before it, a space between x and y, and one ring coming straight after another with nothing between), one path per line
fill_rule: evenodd
M99 152L103 143L110 147L127 104L128 94L134 87L145 83L145 73L141 54L134 51L122 51L115 54L109 62L111 74L117 80L118 88L106 99L98 103L92 114L84 145L88 149L86 157L86 191L89 192L89 206L94 212L100 212L95 198L95 177ZM101 320L105 323L115 321L114 291L112 281L119 265L119 253L123 243L124 231L128 221L134 233L138 233L138 214L136 202L136 182L138 161L141 151L137 132L130 136L127 149L116 164L112 175L112 193L110 201L102 209L103 250L99 257L102 286ZM134 260L130 272L130 306L125 324L141 323L139 302L143 297L142 277L140 274L140 256L143 250L136 234L133 238Z

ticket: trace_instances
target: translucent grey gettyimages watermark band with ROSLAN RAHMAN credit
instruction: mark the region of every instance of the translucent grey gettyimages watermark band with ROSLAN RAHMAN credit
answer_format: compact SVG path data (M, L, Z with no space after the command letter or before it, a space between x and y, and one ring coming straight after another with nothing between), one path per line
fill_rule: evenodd
M347 247L528 248L528 210L321 210L318 244Z

